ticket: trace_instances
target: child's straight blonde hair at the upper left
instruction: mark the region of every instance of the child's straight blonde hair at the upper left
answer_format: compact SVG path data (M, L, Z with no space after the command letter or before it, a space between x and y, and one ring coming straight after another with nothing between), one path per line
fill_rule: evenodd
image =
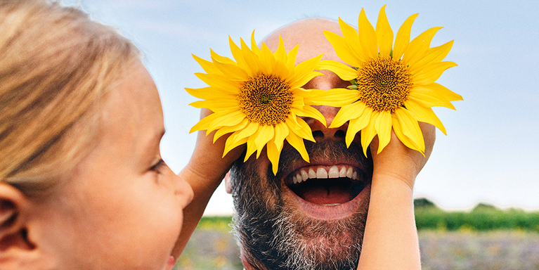
M76 8L0 1L0 181L29 197L56 186L96 141L103 96L140 57Z

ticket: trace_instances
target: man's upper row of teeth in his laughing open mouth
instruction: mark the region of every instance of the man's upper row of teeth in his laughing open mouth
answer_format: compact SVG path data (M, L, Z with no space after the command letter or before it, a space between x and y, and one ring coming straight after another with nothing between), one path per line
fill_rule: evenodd
M345 165L333 165L329 170L326 170L325 167L318 167L316 168L316 172L315 168L309 167L309 169L300 169L296 175L292 176L292 183L299 184L307 179L327 179L339 177L348 177L352 180L358 180L358 172L356 172L353 167Z

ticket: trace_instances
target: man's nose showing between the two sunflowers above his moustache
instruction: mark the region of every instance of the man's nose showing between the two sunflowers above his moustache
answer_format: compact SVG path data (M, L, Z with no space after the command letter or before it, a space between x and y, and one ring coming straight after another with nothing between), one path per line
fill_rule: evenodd
M344 140L346 136L346 129L348 129L348 122L344 123L341 127L329 128L331 122L335 118L335 115L337 115L337 112L339 112L339 108L323 105L313 107L316 108L316 110L320 111L322 115L324 115L325 122L327 124L327 127L324 127L324 125L318 120L314 120L313 118L305 119L305 121L307 122L307 124L309 124L309 127L311 127L311 130L313 131L314 139L316 139L317 141L319 141L320 139Z

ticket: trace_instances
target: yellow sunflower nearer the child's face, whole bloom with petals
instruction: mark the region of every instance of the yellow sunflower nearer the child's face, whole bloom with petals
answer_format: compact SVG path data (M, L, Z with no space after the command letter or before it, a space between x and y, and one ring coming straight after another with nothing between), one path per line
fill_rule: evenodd
M247 143L244 162L256 151L259 158L266 146L273 174L277 173L280 151L285 139L309 162L303 139L315 141L311 128L301 117L312 117L325 124L325 117L311 107L323 100L322 91L302 89L320 72L314 68L322 56L296 65L298 46L288 53L280 38L275 53L268 46L261 48L251 36L251 49L243 39L241 47L229 37L234 60L219 56L210 49L212 61L193 55L206 73L195 73L209 87L188 89L189 94L203 99L190 105L207 108L214 113L204 117L190 130L216 130L214 142L230 134L223 157L236 146Z

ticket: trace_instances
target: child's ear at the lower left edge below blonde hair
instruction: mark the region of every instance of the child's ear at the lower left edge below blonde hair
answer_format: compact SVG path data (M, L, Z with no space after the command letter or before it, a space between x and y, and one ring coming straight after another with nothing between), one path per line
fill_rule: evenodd
M26 269L36 246L29 239L30 201L17 188L0 183L0 269Z

